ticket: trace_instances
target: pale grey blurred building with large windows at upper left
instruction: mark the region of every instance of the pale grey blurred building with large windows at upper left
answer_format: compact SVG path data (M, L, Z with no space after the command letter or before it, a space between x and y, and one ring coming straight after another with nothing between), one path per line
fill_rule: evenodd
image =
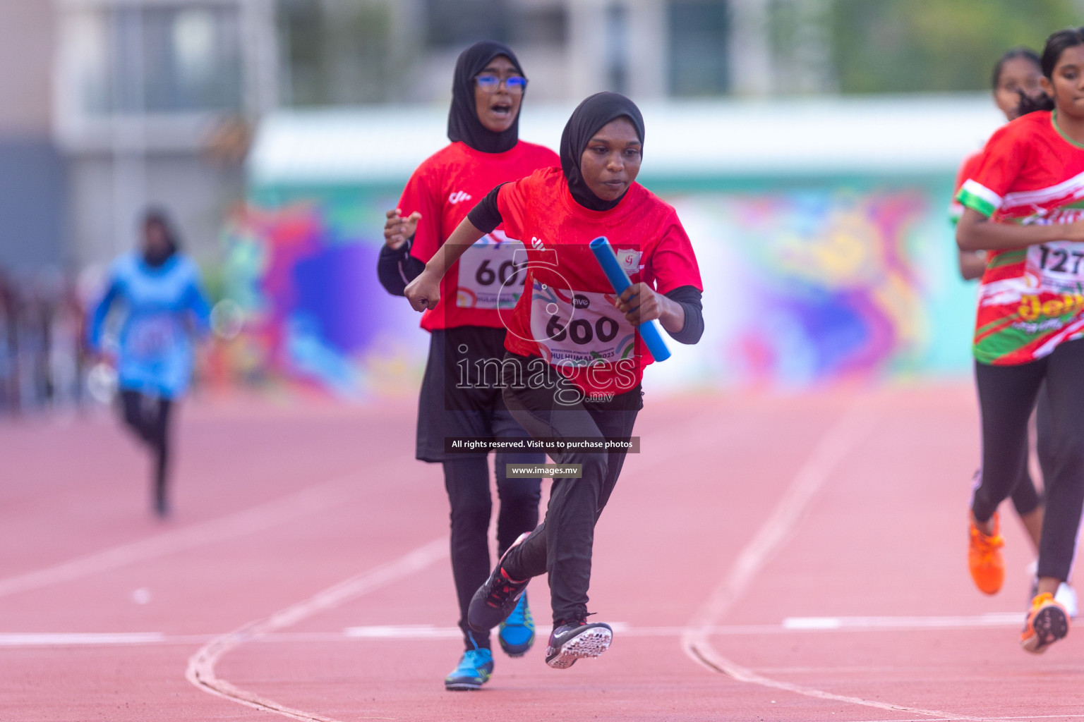
M131 248L147 205L208 253L243 196L250 128L275 104L271 0L54 0L51 19L69 261Z

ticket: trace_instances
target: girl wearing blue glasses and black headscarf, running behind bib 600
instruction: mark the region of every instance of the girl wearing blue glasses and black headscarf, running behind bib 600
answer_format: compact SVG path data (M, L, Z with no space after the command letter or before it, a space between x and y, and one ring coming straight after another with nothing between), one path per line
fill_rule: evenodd
M377 272L388 292L403 294L406 284L422 273L490 188L558 165L553 150L519 140L526 87L519 61L503 43L477 42L460 55L448 114L451 144L414 171L399 207L387 213ZM515 251L521 254L524 246L501 226L476 240L444 276L441 303L422 316L430 341L418 402L416 456L443 465L451 502L452 573L466 648L444 679L448 690L477 690L493 670L489 630L472 631L467 625L470 596L490 570L492 499L487 454L450 450L446 439L528 437L505 408L493 370L504 355L505 328L499 309L515 305L522 293L526 274L517 274ZM509 480L505 467L544 461L539 452L495 455L499 554L538 524L542 496L540 478ZM534 622L526 595L505 620L499 639L513 657L530 648Z

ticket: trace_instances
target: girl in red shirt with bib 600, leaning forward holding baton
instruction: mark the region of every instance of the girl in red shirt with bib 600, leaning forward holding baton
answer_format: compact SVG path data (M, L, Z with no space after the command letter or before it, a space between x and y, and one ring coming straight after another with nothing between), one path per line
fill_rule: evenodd
M640 109L597 93L572 113L560 168L493 188L406 289L415 311L443 302L441 278L486 231L503 223L529 239L527 292L506 312L504 398L532 436L620 439L642 408L640 381L653 358L635 328L658 319L681 343L704 332L700 272L674 209L635 183L644 144ZM615 297L589 248L608 236L633 285ZM553 456L553 455L551 455ZM609 647L612 630L588 622L594 527L624 463L625 449L554 456L581 476L556 477L545 520L518 539L470 603L474 629L515 607L531 577L549 575L553 633L545 660L564 669Z

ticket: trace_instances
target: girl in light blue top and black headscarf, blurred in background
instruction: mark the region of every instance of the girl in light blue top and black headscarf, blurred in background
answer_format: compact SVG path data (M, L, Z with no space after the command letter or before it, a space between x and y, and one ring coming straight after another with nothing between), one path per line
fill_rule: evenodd
M109 270L89 324L95 353L102 352L102 331L114 309L120 315L116 369L124 421L154 454L154 511L166 516L169 417L188 389L193 339L206 332L209 309L199 270L179 252L165 213L144 215L140 252L121 255Z

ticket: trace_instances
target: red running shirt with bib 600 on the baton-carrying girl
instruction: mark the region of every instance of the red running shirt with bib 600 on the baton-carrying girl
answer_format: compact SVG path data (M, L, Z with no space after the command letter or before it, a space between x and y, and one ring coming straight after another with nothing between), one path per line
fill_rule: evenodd
M693 246L674 209L633 183L608 211L577 204L559 168L501 186L498 209L528 261L524 293L502 312L504 346L541 356L586 394L623 393L654 362L640 333L614 306L614 288L589 244L609 238L632 283L659 293L700 285Z

